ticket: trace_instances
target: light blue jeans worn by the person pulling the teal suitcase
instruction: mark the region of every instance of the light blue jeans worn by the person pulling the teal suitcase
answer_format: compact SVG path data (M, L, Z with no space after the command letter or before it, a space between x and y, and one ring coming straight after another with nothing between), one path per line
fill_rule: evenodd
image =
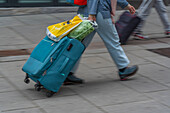
M98 29L88 35L82 43L87 47L97 32L103 40L112 60L115 62L118 69L127 67L129 60L119 43L119 36L111 18L103 19L102 14L98 12L96 16L96 22L98 24ZM80 60L76 63L71 72L74 73L77 70L79 62Z

